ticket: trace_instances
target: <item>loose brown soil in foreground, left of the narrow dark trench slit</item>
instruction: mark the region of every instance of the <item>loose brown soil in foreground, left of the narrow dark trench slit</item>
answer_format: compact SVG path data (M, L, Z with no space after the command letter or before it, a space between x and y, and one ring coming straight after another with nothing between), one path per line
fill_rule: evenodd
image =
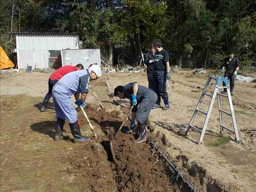
M90 143L76 148L65 161L70 163L68 182L81 191L116 191L113 164L108 161L108 154L100 144Z

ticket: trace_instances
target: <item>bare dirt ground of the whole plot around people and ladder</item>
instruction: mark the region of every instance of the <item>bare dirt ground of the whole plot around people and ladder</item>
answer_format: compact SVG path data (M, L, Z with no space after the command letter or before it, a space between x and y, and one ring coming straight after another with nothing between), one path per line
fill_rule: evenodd
M188 126L202 92L200 88L204 88L209 75L188 77L190 73L180 71L172 74L172 92L169 92L171 109L151 111L150 120L155 129L148 136L184 172L198 191L254 191L255 83L236 81L234 90L233 103L242 144L232 140L235 138L233 134L225 132L225 136L231 139L219 134L216 101L204 144L197 145L199 133L191 131L190 136L186 137L182 131L175 129L177 124ZM210 73L214 74L214 71ZM20 72L11 75L1 75L1 191L186 191L182 185L172 185L170 167L148 143L134 144L136 136L114 134L127 109L113 102L105 80L110 91L116 85L133 81L147 86L145 72L116 72L91 82L104 109L98 110L99 106L91 92L85 111L98 138L92 138L89 144L52 139L55 114L42 114L38 110L47 92L50 74ZM204 100L202 108L205 111L209 101ZM225 103L225 99L222 103ZM225 108L228 110L227 104ZM47 112L53 110L53 103L49 103ZM92 137L80 110L78 119L82 134ZM203 122L204 116L199 116L195 125L202 127ZM225 123L231 127L228 117ZM128 125L127 121L123 130L127 130ZM64 134L72 138L68 123L64 129ZM104 145L110 140L116 154L115 161L111 159L109 148Z

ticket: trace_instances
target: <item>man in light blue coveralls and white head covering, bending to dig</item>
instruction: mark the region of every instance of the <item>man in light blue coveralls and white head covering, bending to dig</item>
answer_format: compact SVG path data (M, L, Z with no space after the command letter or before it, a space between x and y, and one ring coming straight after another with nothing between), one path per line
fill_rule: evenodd
M85 107L90 80L98 79L102 75L98 65L92 65L87 70L74 71L63 76L53 87L52 99L56 112L56 134L54 140L67 139L68 136L62 134L65 119L75 142L88 142L91 139L83 137L77 123L77 112L74 108L71 96L75 94L76 105ZM81 98L79 99L81 93Z

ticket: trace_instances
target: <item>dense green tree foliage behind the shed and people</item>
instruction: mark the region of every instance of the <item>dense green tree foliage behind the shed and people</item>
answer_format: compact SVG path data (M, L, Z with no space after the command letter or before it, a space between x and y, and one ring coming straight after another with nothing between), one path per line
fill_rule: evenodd
M13 3L12 31L76 32L83 48L118 44L144 52L160 38L171 58L207 51L220 60L234 49L249 62L256 53L255 0L5 0L0 32L8 54L15 47Z

